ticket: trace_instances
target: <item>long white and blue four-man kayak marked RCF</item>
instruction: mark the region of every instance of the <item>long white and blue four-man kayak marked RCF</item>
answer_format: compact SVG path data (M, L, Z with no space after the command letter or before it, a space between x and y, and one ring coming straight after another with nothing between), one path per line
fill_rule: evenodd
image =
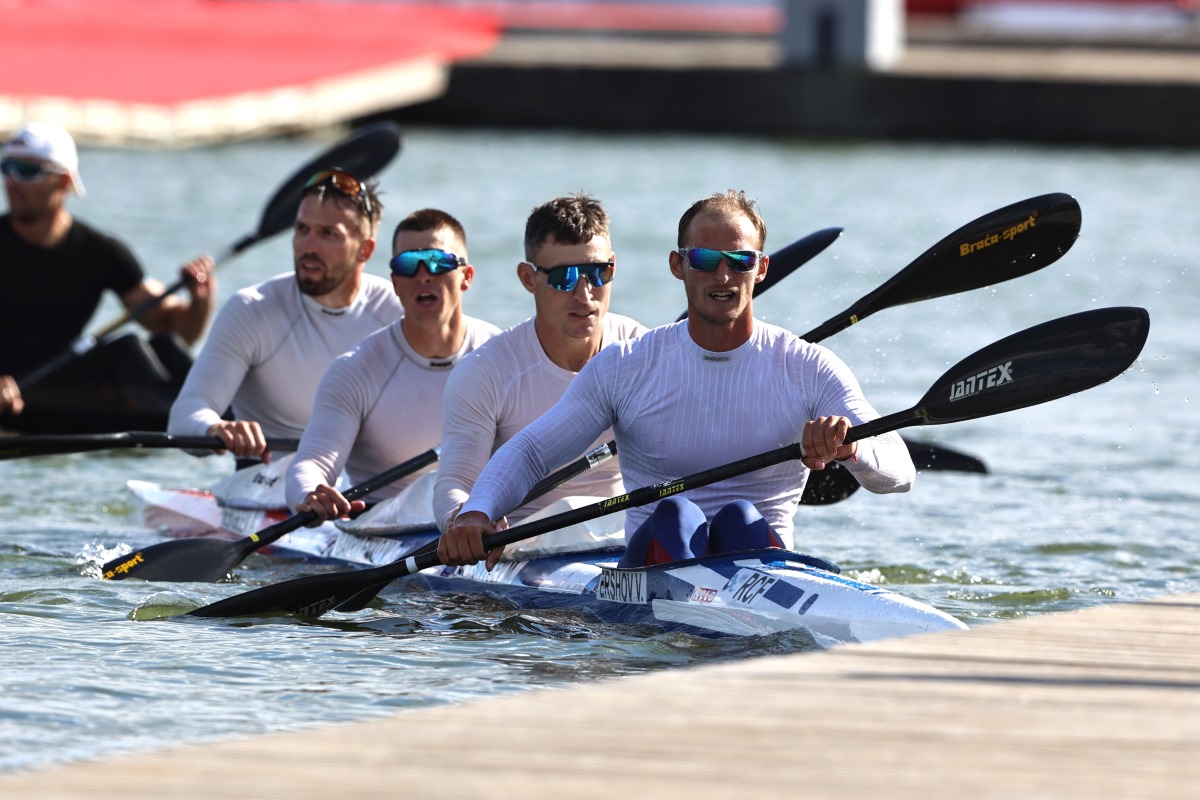
M358 519L288 534L274 548L356 567L402 559L438 537L432 523L413 522L419 519L413 506L422 505L419 485L414 489L412 495L402 494ZM148 524L157 522L168 535L220 535L198 534L196 521L200 518L210 530L221 528L226 534L229 525L250 521L250 516L222 517L216 499L205 493L163 489L140 481L131 481L130 491L146 504ZM560 513L594 500L566 498L535 516ZM624 534L616 519L619 515L539 537L545 542L534 539L510 546L491 572L482 565L442 565L403 581L409 585L421 582L432 590L499 595L522 608L578 607L607 622L646 624L706 637L804 630L818 644L830 645L966 627L931 606L847 578L835 565L792 551L722 553L618 569ZM184 533L187 521L190 534Z

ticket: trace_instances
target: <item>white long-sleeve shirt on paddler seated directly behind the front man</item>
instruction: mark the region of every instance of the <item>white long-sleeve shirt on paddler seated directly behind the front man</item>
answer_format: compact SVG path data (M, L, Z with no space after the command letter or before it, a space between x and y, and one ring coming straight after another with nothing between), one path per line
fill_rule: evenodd
M600 347L644 331L646 327L629 317L606 314ZM444 396L442 461L433 488L434 518L443 530L470 494L475 477L491 455L557 403L575 375L546 355L534 330L534 318L492 338L455 367ZM538 480L611 439L612 432L601 428L578 450L553 462ZM622 486L619 465L612 459L524 506L522 516L535 513L564 497L620 494ZM522 492L521 497L524 494ZM508 511L512 509L505 509ZM515 521L515 517L510 519Z

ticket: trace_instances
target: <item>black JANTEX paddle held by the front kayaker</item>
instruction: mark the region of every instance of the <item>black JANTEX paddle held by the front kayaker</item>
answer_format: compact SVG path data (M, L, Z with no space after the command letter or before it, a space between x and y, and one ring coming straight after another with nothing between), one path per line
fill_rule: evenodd
M854 426L847 441L916 425L944 425L991 416L1098 386L1133 363L1148 332L1150 314L1144 308L1100 308L1043 323L967 356L938 378L914 407ZM487 549L494 549L802 457L799 444L786 445L490 534L485 543ZM192 616L245 616L286 612L320 616L368 589L440 563L436 552L409 555L370 570L307 576L262 587L188 613Z

